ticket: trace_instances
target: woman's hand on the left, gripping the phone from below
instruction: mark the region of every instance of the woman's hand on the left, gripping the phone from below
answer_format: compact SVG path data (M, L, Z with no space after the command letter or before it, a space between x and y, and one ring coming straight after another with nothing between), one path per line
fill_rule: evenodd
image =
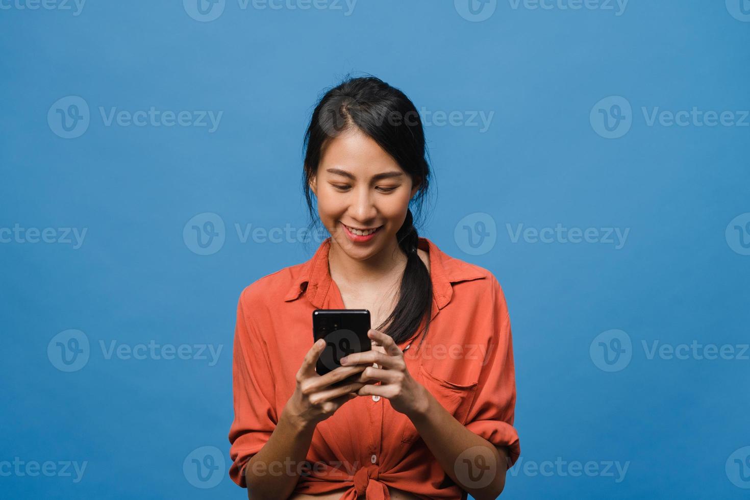
M297 387L287 402L284 412L301 428L314 428L318 423L333 415L344 403L357 397L365 382L344 382L332 386L357 373L362 373L368 364L357 364L350 367L337 367L335 370L320 376L315 371L320 354L326 349L326 341L321 339L313 344L302 366L297 371ZM355 377L353 377L354 379ZM356 377L359 380L359 377Z

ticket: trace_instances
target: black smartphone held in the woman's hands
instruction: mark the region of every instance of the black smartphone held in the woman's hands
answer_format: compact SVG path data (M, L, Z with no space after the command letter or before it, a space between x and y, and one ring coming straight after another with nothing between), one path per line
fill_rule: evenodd
M326 339L315 371L325 375L341 367L341 358L353 352L372 350L368 337L370 311L367 309L316 309L313 311L313 342Z

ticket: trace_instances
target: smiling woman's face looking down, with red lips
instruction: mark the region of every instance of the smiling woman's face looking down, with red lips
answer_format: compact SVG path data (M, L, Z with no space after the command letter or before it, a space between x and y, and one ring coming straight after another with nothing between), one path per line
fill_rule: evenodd
M311 189L332 239L351 258L365 260L395 244L419 184L355 128L328 143Z

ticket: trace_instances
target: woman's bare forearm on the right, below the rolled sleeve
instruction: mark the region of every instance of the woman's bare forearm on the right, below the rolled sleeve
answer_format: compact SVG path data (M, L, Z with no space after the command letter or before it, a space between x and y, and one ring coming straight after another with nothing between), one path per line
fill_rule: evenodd
M505 472L508 468L505 457L502 457L492 443L461 425L426 389L425 398L427 404L416 415L410 416L425 445L446 474L466 493L477 500L496 499L505 487ZM475 446L486 448L486 451L482 450L479 454L464 456L462 459L474 463L478 455L481 455L482 458L478 460L484 460L484 464L489 466L488 470L494 471L491 481L486 486L484 486L487 482L485 479L473 481L474 484L465 484L466 474L460 475L463 476L463 481L456 475L456 460L464 451ZM490 460L493 463L490 463ZM477 488L479 484L483 487Z

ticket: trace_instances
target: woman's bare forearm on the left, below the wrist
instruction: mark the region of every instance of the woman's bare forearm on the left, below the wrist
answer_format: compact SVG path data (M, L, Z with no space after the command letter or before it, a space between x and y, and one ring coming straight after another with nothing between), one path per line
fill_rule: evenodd
M248 499L288 499L293 493L302 463L308 456L315 426L304 425L284 412L269 441L245 467Z

